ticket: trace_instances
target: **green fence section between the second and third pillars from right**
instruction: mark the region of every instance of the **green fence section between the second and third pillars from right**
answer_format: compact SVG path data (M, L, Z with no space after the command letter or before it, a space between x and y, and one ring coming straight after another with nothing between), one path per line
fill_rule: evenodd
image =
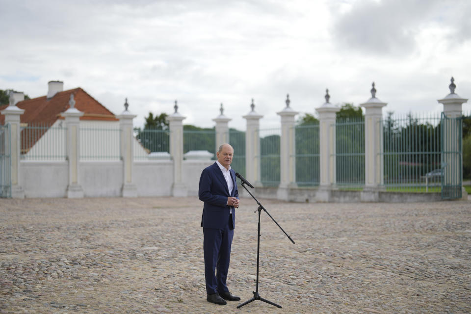
M365 185L364 119L337 120L335 134L337 186L341 188L362 188Z

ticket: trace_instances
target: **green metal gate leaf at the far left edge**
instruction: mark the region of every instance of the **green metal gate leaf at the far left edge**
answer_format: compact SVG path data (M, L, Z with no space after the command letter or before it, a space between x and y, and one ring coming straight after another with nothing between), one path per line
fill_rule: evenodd
M10 125L0 125L0 197L11 197Z

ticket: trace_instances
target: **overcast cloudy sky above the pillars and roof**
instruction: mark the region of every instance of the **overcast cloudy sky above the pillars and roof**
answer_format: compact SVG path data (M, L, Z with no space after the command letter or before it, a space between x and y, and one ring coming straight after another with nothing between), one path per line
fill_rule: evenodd
M376 96L383 112L439 112L471 98L469 0L0 0L0 89L31 98L49 80L82 87L142 126L150 111L212 127L224 114L277 127L285 106L315 112ZM470 111L471 105L464 105Z

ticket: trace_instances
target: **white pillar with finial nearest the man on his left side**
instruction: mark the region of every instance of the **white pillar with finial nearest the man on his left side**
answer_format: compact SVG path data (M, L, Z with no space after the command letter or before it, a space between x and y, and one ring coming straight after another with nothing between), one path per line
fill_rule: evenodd
M187 196L187 190L182 178L183 163L183 119L185 117L178 112L175 101L175 112L167 117L170 129L170 156L173 160L173 185L172 196Z

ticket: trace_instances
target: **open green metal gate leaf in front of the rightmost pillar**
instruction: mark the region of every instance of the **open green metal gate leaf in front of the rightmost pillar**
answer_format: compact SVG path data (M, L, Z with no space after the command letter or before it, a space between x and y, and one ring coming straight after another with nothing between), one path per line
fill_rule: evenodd
M448 118L442 112L442 199L459 199L462 196L462 117Z

